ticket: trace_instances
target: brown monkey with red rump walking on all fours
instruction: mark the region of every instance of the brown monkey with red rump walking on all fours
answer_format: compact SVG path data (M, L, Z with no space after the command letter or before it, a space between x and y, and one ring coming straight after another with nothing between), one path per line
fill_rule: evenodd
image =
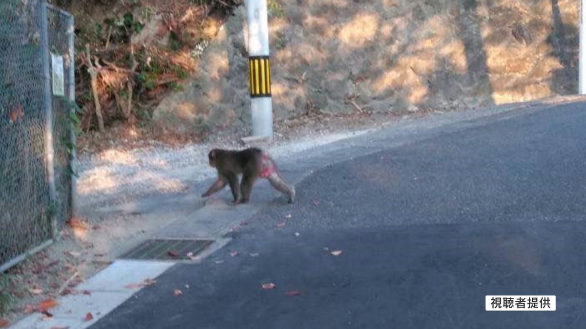
M202 194L209 197L213 193L222 190L229 184L233 204L247 203L254 181L258 178L267 179L271 186L289 197L288 202L295 202L295 187L285 183L277 170L274 160L258 148L244 150L212 149L207 155L210 166L216 168L218 178L212 186ZM238 181L238 175L242 174L242 180Z

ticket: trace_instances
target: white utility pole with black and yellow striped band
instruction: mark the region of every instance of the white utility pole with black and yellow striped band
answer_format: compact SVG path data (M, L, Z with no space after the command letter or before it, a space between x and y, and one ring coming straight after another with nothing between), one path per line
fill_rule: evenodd
M253 136L272 138L267 0L247 0L250 111Z

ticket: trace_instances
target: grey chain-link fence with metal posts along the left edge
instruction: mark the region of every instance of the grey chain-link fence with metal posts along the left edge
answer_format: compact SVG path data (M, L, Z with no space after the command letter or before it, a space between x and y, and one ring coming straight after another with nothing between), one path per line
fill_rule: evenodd
M73 61L69 13L0 1L0 272L70 217Z

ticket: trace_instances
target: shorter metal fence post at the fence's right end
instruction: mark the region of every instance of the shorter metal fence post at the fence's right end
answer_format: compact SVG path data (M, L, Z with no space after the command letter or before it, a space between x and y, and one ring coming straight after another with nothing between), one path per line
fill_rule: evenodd
M67 33L69 34L69 101L71 104L75 102L75 19L73 15L69 15L67 19ZM70 108L70 114L76 115L76 109ZM76 217L77 213L77 133L73 121L71 122L71 191L70 191L70 202L71 202L71 213L70 218Z

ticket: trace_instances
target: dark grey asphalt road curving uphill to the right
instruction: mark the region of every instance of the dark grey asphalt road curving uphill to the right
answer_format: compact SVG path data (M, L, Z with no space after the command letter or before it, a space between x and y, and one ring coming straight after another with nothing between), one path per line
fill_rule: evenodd
M585 328L584 107L319 170L292 207L271 203L92 328ZM556 295L557 310L485 311L500 294Z

